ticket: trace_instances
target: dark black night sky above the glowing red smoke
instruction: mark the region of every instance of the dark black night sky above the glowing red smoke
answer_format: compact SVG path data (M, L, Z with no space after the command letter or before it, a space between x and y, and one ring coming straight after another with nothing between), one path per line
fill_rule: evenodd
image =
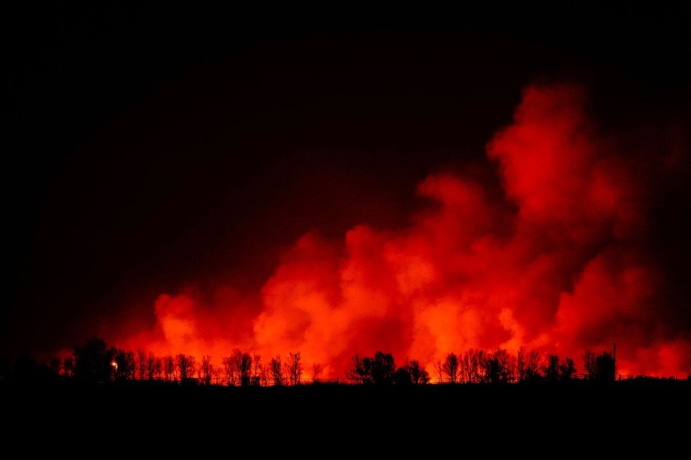
M0 14L10 354L189 283L260 286L310 229L404 225L428 173L485 164L533 81L589 84L605 128L688 117L680 7L50 3Z

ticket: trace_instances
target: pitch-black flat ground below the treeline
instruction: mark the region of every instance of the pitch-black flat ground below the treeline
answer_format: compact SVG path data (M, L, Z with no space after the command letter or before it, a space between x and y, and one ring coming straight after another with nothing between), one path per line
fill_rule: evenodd
M4 458L686 458L691 381L0 385Z

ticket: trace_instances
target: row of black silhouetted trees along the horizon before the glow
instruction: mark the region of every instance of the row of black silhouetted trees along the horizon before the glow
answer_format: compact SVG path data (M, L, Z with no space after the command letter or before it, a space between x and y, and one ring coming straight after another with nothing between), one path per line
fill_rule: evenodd
M189 386L298 386L338 383L357 386L504 385L517 383L568 384L574 381L608 383L615 380L616 363L608 351L586 350L580 374L574 359L560 359L557 354L542 356L536 350L521 347L517 354L498 349L493 352L471 349L448 353L426 370L415 359L397 366L390 353L377 351L371 357L354 355L344 378L323 379L323 366L314 364L305 371L300 352L264 361L259 354L235 349L211 362L205 355L198 361L189 354L157 356L144 350L122 350L109 346L104 339L92 337L73 347L68 357L53 358L48 363L23 355L10 366L0 361L2 381L75 381L90 384L149 382L149 384ZM621 376L620 376L621 379Z

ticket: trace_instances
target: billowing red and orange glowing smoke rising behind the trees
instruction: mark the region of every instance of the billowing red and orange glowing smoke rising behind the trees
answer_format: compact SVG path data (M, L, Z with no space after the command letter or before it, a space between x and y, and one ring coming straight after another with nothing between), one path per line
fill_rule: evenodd
M363 223L342 241L309 232L261 292L161 294L155 328L116 343L214 361L234 348L265 360L299 351L306 369L343 377L354 354L376 350L431 371L448 352L522 345L579 366L586 349L616 342L623 374L691 373L690 333L674 326L650 245L648 176L670 159L621 151L586 100L572 85L524 91L486 148L503 194L471 174L433 174L407 228Z

